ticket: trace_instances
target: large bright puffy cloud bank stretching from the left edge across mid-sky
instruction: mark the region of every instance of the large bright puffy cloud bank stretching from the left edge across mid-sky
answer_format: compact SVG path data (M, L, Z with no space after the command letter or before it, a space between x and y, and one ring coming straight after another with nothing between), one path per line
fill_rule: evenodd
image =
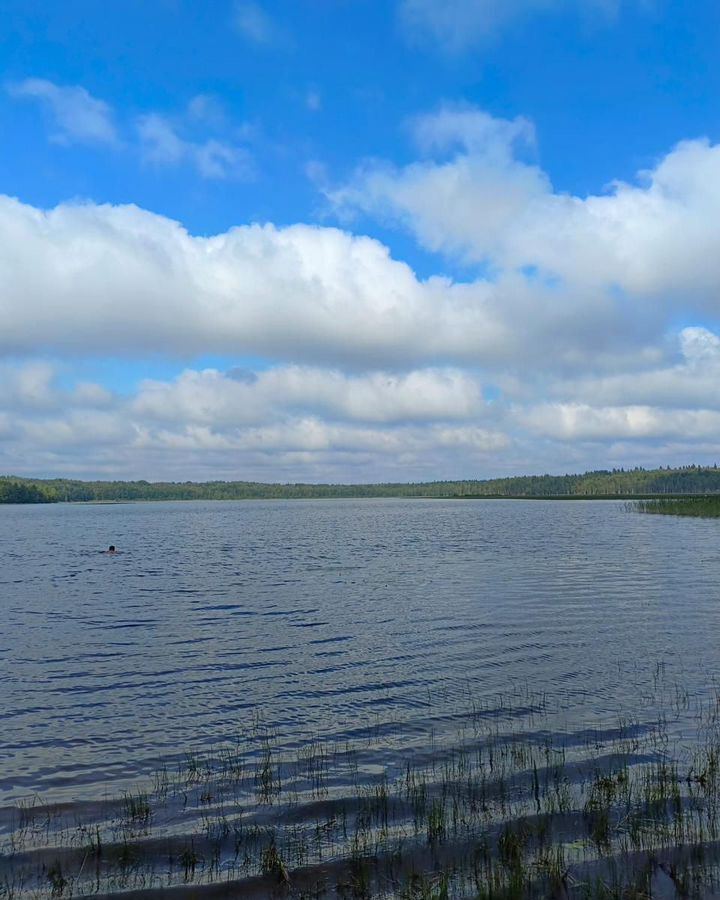
M133 206L41 211L0 197L0 259L0 354L587 371L644 359L669 321L599 285L580 292L518 272L420 281L378 241L334 228L194 237Z

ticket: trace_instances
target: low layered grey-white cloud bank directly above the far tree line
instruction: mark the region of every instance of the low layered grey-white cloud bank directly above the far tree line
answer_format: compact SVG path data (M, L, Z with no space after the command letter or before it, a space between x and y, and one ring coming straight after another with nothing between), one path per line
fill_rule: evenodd
M703 342L720 343L705 331ZM685 347L695 337L678 343ZM488 404L485 379L456 369L403 375L283 365L186 369L111 394L87 383L61 388L47 363L6 364L0 469L402 481L582 469L597 466L598 457L608 466L712 462L720 441L717 399L703 406L700 392L673 405L662 390L644 403L632 399L633 378L642 383L647 375L674 372L682 382L683 366L708 385L718 372L715 356L686 357L677 371L631 374L626 397L615 402L602 393L579 399L574 380L556 380L526 383L522 395L503 393Z

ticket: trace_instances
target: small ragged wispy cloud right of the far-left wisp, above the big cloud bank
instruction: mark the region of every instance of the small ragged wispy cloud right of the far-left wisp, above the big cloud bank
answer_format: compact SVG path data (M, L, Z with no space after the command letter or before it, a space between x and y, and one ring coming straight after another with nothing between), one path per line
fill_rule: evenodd
M170 166L190 163L203 178L248 178L252 175L251 158L244 148L215 138L202 142L186 140L180 137L170 119L157 113L138 120L138 133L143 156L148 162Z

